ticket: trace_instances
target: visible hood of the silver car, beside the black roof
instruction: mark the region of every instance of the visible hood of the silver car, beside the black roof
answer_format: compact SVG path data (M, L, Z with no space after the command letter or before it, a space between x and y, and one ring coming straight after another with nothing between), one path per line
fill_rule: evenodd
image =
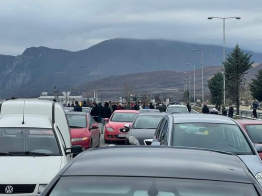
M254 175L262 172L262 162L258 155L239 155Z

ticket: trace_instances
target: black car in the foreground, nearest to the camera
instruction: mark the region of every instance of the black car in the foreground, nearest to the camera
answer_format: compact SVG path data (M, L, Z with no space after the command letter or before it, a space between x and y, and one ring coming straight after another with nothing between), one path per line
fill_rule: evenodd
M85 151L40 196L255 196L262 188L231 153L124 146Z

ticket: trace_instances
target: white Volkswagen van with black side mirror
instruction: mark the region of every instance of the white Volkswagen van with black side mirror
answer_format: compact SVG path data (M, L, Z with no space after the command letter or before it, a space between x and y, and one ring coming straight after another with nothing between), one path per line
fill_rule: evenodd
M80 153L71 146L60 104L8 100L0 104L0 195L39 195L51 179Z

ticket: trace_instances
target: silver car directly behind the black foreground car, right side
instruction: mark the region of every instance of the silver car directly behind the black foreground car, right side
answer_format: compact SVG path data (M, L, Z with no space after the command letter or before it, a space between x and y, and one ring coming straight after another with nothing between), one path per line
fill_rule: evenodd
M252 141L233 119L210 114L166 114L152 145L212 149L238 155L262 184L261 145ZM192 160L193 164L194 160Z

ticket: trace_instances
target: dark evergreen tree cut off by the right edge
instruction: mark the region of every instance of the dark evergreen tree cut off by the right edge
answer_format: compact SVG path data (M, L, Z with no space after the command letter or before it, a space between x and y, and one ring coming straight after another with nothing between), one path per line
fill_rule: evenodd
M258 71L256 78L252 79L250 91L255 99L257 99L259 102L262 101L262 69Z

